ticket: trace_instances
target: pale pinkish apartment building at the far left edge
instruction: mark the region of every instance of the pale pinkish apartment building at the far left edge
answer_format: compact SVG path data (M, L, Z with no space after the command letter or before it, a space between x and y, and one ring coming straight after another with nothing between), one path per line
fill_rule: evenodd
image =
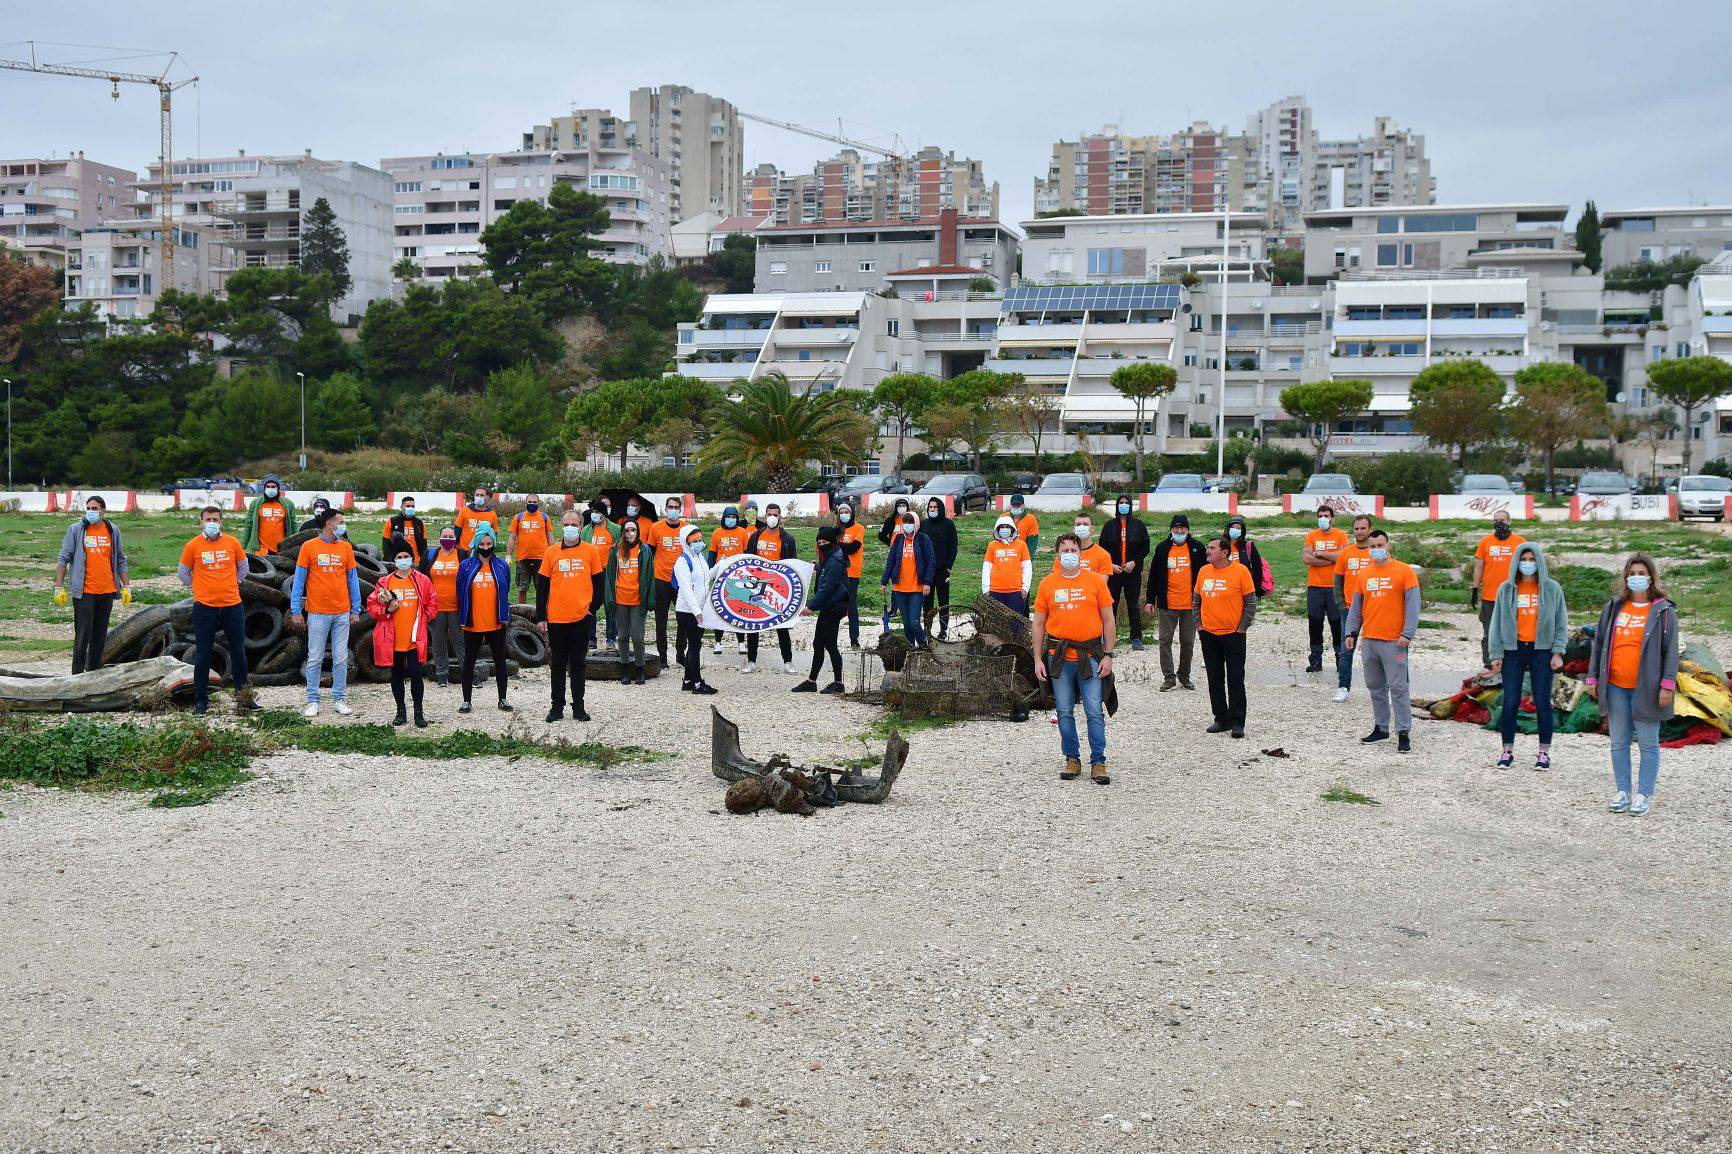
M120 217L139 173L73 152L62 159L0 161L0 244L35 263L66 267L83 229Z

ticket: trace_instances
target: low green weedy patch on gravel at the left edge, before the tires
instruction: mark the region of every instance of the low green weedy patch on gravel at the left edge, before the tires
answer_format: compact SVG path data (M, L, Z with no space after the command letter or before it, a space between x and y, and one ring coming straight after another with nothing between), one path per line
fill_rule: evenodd
M0 731L0 778L88 792L154 792L152 806L203 806L249 781L251 733L196 721L161 726L97 717L12 717Z

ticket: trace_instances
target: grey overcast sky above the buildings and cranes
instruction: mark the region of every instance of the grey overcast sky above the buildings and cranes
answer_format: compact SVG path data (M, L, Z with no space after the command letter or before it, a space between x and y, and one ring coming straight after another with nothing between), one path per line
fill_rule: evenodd
M177 97L182 158L507 149L572 106L624 116L630 88L684 83L762 116L831 132L840 118L857 139L979 158L1015 222L1060 137L1193 120L1238 132L1252 109L1302 94L1325 139L1370 132L1377 114L1425 133L1439 203L1732 203L1727 0L0 0L0 36L178 50L201 76ZM116 102L97 81L0 71L0 156L76 149L142 172L158 152L154 94ZM833 151L746 126L748 168L804 170Z

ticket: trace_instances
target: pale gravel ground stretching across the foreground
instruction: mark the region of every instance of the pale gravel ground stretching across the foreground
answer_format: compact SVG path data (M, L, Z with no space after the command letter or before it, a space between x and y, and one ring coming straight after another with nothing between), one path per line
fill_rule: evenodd
M1476 646L1448 620L1432 681ZM611 773L0 794L0 1149L1732 1149L1725 750L1611 816L1604 740L1365 752L1302 646L1259 620L1245 742L1128 657L1110 788L1037 716L916 733L885 806L733 818L662 679L559 726L674 754ZM748 754L861 752L875 709L740 660L705 653ZM544 676L516 700L544 729Z

